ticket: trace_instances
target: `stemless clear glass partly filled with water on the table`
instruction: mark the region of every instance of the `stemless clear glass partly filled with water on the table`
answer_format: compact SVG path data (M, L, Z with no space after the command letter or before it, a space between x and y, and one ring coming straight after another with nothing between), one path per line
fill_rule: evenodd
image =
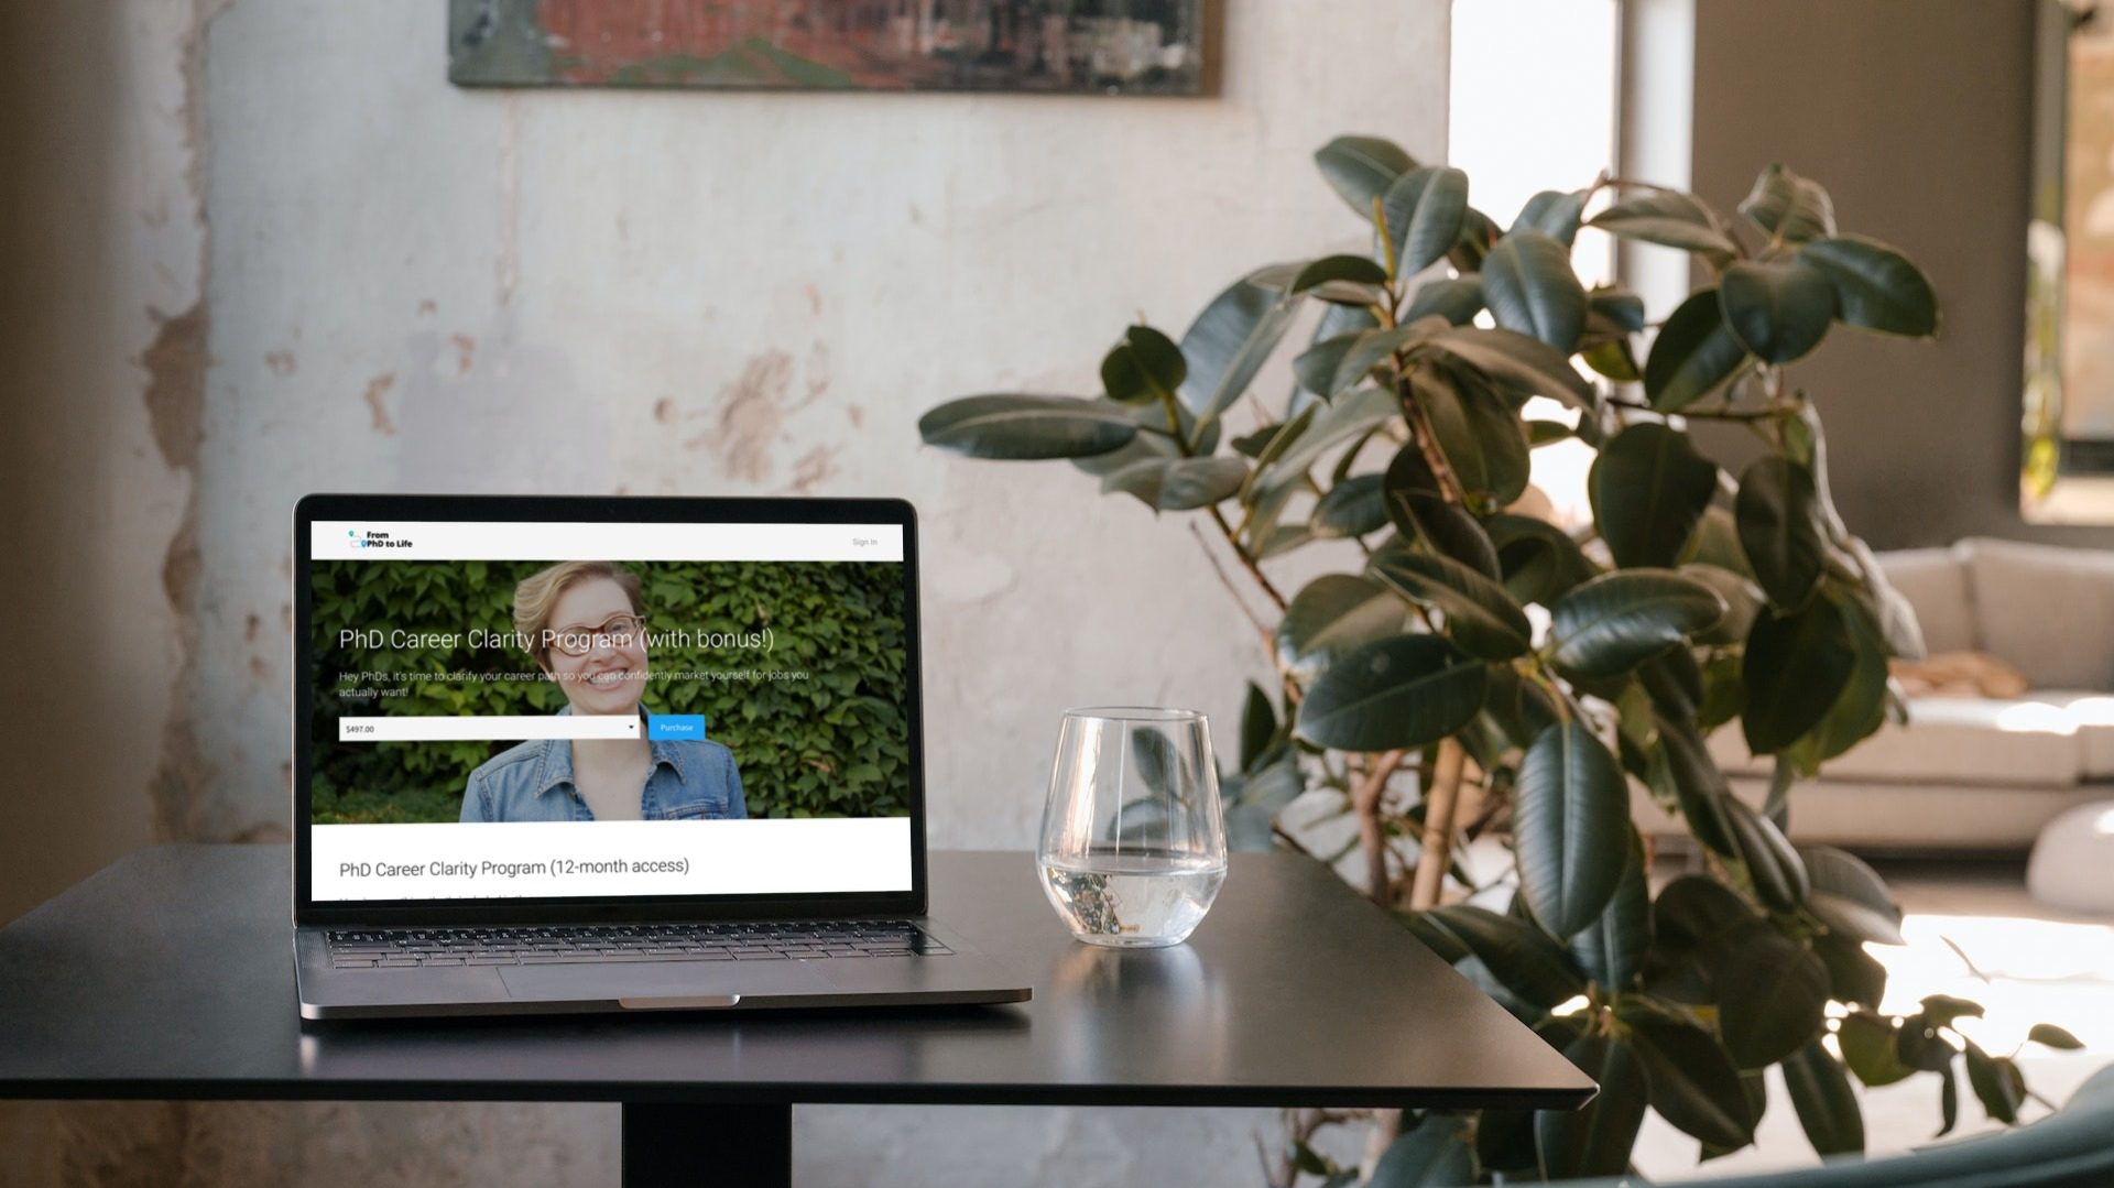
M1194 710L1065 710L1042 805L1042 894L1091 945L1180 945L1226 881L1211 727Z

